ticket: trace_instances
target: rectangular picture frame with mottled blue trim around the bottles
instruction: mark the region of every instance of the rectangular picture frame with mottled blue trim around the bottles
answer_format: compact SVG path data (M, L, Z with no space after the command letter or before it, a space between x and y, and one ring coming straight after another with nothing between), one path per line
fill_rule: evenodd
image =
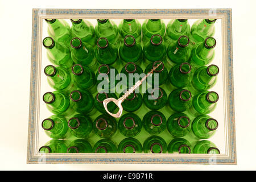
M38 154L38 114L40 91L40 35L43 18L221 18L222 47L225 73L225 114L227 125L227 155L201 154ZM171 17L171 18L170 18ZM234 119L232 10L231 9L180 9L180 10L80 10L33 9L31 45L30 114L28 122L27 163L158 163L158 164L237 164Z

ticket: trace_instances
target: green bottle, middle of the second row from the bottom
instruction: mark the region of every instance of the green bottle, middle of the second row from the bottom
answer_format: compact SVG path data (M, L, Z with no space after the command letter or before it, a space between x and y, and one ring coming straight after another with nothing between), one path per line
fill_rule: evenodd
M118 121L118 129L125 137L135 137L142 129L141 118L134 113L126 113Z

